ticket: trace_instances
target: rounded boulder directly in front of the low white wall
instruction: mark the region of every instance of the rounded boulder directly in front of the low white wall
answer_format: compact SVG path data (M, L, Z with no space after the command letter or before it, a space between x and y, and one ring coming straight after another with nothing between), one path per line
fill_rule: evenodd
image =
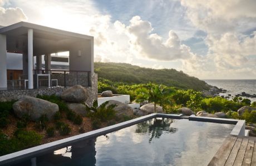
M107 103L106 107L112 104L116 105L114 107L114 110L116 111L117 117L132 117L134 115L134 111L132 110L132 107L130 107L129 105L126 105L125 103L122 103L120 101L109 100L109 103Z

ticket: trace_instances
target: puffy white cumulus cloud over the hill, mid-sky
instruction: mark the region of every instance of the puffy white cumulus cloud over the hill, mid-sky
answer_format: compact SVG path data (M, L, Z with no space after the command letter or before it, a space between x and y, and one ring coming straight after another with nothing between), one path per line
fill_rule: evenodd
M170 30L167 40L163 40L156 33L152 33L151 23L142 20L138 15L132 17L130 24L125 26L115 22L117 32L125 32L129 37L130 48L138 56L147 59L170 61L188 59L192 55L190 48L181 41L178 35Z

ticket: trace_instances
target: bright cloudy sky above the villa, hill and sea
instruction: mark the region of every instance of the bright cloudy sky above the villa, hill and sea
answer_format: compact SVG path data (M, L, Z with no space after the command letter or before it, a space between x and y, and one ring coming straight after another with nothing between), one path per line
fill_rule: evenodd
M95 61L256 79L255 0L0 0L0 25L20 21L92 35Z

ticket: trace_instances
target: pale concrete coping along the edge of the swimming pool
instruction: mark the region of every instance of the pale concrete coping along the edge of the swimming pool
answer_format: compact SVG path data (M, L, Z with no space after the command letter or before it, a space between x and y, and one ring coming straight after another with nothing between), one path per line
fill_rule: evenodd
M11 164L18 163L23 159L30 159L36 157L38 154L43 154L48 151L55 151L57 149L63 148L65 146L70 146L72 143L76 143L78 141L82 141L83 139L93 138L97 136L101 136L110 132L117 131L119 129L129 127L132 125L136 125L137 123L144 122L146 120L150 120L152 118L174 118L174 119L182 119L183 115L174 115L174 114L164 114L164 113L152 113L150 115L142 116L139 118L135 118L133 120L125 121L118 123L116 125L107 126L104 128L96 129L94 131L90 131L87 133L79 134L76 136L60 139L57 141L53 141L50 143L42 144L40 146L24 149L22 151L6 154L0 156L0 165L3 164ZM225 119L225 118L211 118L211 117L198 117L195 115L189 116L189 121L201 121L201 122L214 122L214 123L225 123L235 125L232 132L230 133L233 136L245 136L245 121L244 120L233 120L233 119Z

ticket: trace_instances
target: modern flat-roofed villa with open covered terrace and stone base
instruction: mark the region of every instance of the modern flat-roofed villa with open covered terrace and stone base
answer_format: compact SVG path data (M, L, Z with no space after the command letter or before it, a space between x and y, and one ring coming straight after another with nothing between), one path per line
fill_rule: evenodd
M51 56L64 51L68 52L68 58ZM22 70L7 70L7 56L13 53L22 55ZM0 101L18 99L21 90L22 95L51 95L77 84L89 89L96 99L91 36L19 22L0 27L0 59ZM51 69L51 61L68 62L68 70Z

